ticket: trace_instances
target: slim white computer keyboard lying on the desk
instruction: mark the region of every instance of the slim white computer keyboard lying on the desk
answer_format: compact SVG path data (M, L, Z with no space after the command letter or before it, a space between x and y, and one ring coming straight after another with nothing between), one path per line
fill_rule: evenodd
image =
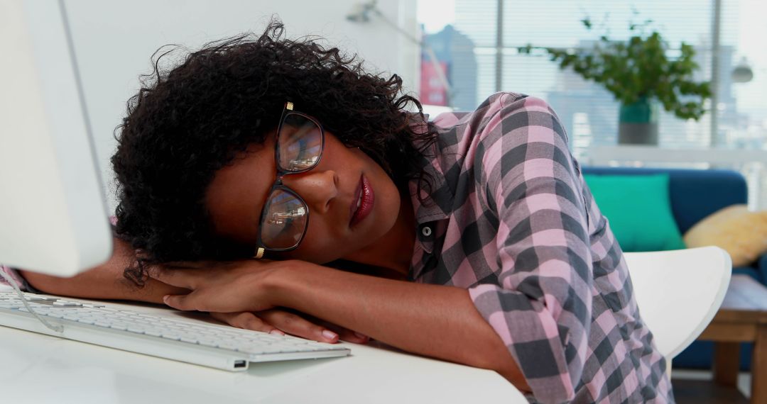
M344 357L347 347L298 337L166 318L109 305L25 293L31 307L59 333L28 312L15 292L0 292L0 325L216 369L247 370L250 362Z

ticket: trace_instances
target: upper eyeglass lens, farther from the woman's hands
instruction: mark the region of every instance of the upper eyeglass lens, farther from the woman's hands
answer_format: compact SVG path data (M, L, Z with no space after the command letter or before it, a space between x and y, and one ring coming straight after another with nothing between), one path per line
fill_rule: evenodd
M278 142L278 162L285 171L305 171L320 161L322 132L317 123L305 116L288 113Z

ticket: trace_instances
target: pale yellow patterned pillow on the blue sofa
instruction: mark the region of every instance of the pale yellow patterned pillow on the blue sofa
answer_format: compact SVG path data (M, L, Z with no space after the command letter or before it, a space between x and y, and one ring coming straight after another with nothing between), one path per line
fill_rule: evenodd
M721 247L732 256L732 267L748 266L767 252L767 210L749 212L746 205L718 210L688 230L684 243Z

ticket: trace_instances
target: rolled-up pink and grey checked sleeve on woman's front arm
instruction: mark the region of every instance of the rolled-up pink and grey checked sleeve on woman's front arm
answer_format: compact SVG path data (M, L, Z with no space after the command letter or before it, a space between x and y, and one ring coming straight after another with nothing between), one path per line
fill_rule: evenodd
M544 101L506 94L499 103L475 161L480 204L499 219L498 283L469 293L535 399L570 401L588 350L593 279L578 168Z

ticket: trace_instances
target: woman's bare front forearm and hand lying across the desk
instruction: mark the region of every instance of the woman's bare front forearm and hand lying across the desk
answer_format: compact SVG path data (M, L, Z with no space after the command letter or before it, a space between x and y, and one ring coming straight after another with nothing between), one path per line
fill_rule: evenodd
M192 289L164 301L179 310L288 307L364 333L393 347L495 370L518 389L525 379L466 289L343 272L311 262L206 262L152 276Z

